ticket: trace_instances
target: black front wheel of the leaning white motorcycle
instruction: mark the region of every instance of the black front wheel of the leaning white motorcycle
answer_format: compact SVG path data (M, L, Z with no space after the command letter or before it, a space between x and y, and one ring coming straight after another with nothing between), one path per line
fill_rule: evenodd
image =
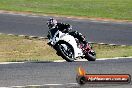
M68 62L75 60L73 47L67 42L57 44L57 53Z

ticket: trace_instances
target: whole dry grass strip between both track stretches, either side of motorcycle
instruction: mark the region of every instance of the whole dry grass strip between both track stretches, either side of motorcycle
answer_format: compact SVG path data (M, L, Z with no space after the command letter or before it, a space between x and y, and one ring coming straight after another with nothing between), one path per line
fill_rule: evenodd
M93 44L97 58L132 56L132 46L109 46ZM47 45L47 40L0 35L0 62L62 60Z

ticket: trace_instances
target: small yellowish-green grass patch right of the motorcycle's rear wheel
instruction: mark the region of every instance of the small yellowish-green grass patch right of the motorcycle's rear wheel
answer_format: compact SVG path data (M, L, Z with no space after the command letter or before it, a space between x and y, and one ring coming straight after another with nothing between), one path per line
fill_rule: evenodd
M132 56L132 46L110 46L110 45L93 45L97 58L114 58Z

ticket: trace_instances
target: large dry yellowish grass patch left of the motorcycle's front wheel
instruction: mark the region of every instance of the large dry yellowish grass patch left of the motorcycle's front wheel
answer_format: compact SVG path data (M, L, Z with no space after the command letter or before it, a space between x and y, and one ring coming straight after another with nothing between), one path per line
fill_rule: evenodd
M47 40L0 35L0 62L52 61L60 59L47 44Z

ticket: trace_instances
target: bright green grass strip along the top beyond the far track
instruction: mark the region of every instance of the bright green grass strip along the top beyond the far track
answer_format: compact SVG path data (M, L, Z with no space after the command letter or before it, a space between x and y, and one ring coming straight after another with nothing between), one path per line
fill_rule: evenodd
M132 20L132 0L0 0L0 9Z

